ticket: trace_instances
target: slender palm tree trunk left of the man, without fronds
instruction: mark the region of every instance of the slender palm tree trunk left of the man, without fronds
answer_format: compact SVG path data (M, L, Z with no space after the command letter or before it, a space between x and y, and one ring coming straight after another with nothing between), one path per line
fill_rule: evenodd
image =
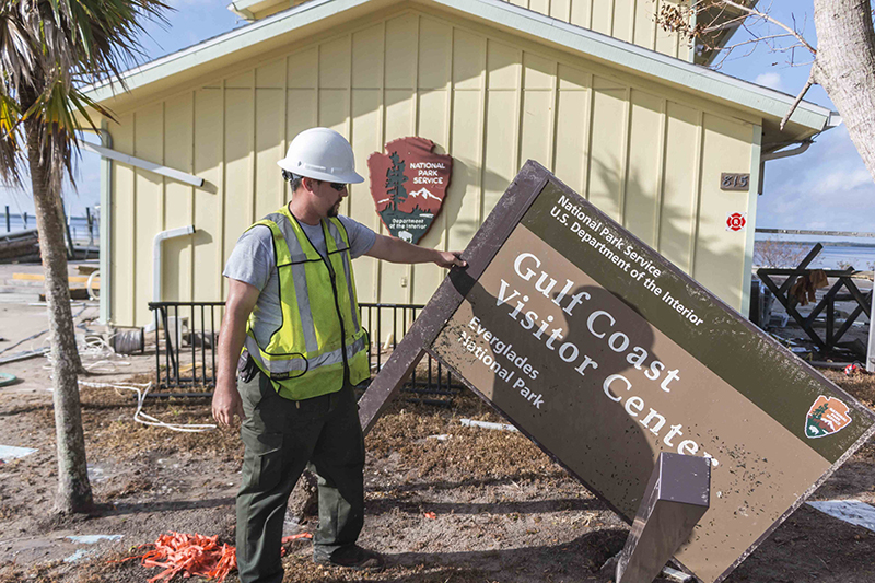
M46 273L46 301L49 311L52 388L55 399L55 434L58 450L58 497L55 508L62 513L84 512L94 501L85 462L85 438L79 403L80 366L75 343L70 289L67 275L67 247L63 223L49 174L49 159L43 153L39 121L25 121L27 158L39 233L39 252Z

